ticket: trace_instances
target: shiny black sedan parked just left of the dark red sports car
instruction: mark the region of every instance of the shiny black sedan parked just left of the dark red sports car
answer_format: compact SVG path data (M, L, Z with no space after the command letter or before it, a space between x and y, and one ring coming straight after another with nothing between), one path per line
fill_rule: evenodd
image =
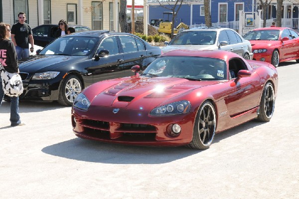
M58 100L70 106L83 88L131 75L136 64L145 69L160 54L159 47L130 33L95 30L65 35L20 61L20 99Z

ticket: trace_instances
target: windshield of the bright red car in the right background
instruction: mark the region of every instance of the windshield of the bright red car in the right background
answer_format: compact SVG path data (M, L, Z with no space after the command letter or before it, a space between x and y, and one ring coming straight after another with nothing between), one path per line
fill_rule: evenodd
M252 30L243 36L247 40L278 40L280 30Z

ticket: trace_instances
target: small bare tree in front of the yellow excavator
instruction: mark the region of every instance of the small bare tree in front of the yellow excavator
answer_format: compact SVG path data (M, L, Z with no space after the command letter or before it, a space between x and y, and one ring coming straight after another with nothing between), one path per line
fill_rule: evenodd
M170 37L173 38L174 20L184 0L157 0L157 1L159 2L161 7L164 7L165 9L169 9L172 12L172 20L171 20L172 27L171 27Z

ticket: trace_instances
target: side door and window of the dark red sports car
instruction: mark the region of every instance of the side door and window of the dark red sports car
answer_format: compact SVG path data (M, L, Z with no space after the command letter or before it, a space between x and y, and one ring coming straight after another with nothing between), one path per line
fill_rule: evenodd
M236 77L239 70L247 70L246 64L240 58L229 60L228 67L228 72L233 71ZM227 82L227 87L229 89L225 103L231 117L258 106L262 87L257 73L252 73L250 77L239 78L237 81L236 78L231 78Z

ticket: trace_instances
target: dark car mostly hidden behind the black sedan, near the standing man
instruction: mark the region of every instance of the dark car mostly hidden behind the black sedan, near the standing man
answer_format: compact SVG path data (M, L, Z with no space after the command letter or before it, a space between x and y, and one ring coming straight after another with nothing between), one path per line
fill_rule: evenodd
M68 27L74 27L76 32L91 30L91 28L84 25L68 25ZM45 47L55 39L55 32L57 29L57 24L43 24L32 28L34 44Z

